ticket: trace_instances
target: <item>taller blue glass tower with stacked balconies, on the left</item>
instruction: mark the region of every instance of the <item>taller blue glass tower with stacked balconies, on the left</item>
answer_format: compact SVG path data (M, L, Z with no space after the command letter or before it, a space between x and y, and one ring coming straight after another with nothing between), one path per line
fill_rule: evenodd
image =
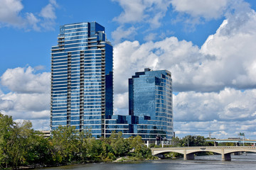
M51 56L51 130L72 125L103 136L113 114L113 55L105 28L96 22L60 26Z

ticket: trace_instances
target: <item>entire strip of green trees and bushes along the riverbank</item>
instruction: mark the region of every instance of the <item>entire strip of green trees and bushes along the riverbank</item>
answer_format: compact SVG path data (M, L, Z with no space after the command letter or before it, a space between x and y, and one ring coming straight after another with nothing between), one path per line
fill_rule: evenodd
M154 159L142 137L124 139L122 132L96 140L90 130L79 132L75 127L59 127L45 138L33 130L30 121L16 123L0 113L0 169L20 166L55 166Z

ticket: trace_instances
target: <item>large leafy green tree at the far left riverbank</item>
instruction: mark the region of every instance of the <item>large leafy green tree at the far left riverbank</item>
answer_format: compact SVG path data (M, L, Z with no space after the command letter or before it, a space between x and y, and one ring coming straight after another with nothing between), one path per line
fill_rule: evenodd
M15 123L11 116L1 113L0 152L1 166L11 166L13 169L21 165L46 162L50 155L47 140L32 129L30 121Z

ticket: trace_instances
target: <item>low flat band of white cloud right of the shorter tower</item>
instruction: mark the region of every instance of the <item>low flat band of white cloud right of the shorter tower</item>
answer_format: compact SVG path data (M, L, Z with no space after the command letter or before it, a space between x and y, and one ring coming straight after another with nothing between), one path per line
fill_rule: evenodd
M255 119L256 90L224 89L219 93L181 92L174 96L176 121Z

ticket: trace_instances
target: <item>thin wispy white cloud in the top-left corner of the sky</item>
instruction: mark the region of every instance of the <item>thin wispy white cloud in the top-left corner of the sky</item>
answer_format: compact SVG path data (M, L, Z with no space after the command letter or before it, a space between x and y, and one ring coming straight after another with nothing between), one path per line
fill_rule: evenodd
M55 8L58 4L55 0L50 0L49 4L42 8L39 14L26 12L21 0L0 0L0 27L14 26L25 28L26 30L53 29Z

